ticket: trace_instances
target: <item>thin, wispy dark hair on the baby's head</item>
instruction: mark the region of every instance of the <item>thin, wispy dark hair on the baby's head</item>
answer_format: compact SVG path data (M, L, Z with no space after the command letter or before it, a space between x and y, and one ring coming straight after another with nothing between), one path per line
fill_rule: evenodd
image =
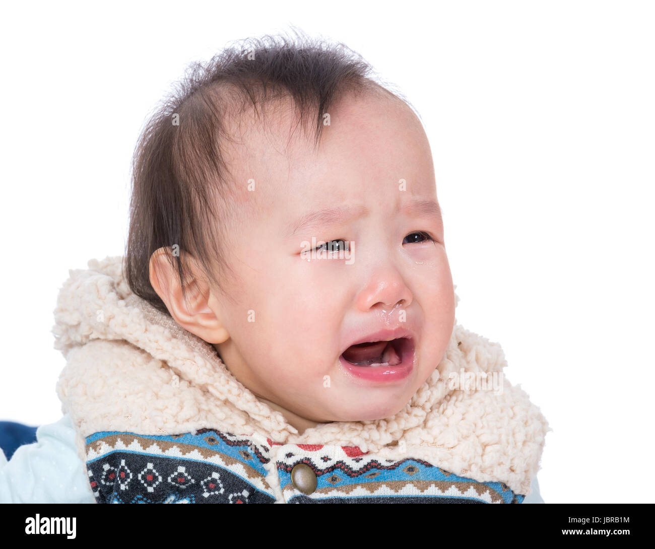
M315 116L316 146L323 115L342 94L375 88L400 98L376 83L372 67L350 48L293 30L295 42L279 35L246 39L206 65L191 64L141 131L132 159L125 278L132 292L159 311L170 314L150 283L155 250L178 245L179 254L166 256L183 295L189 273L185 252L219 288L221 276L231 271L217 243L234 214L219 140L229 139L227 122L246 112L248 100L257 113L258 105L290 97L300 122ZM214 267L220 276L214 276Z

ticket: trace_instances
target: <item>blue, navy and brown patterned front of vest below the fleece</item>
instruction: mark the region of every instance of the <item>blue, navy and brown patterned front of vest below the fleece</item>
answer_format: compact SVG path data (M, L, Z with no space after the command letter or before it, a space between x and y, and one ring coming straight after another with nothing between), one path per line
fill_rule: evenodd
M309 495L291 482L316 474ZM354 446L280 444L214 429L176 435L97 432L86 437L88 480L99 503L273 503L277 472L288 503L522 503L502 482L477 482L409 455L383 459Z

